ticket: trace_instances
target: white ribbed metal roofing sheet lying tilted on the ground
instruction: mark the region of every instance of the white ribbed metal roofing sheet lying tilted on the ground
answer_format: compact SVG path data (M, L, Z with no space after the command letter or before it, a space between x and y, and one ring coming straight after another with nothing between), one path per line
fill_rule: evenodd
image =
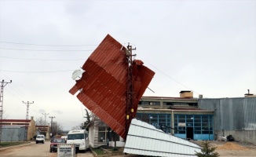
M146 122L133 119L123 152L150 156L196 156L199 145L155 129Z

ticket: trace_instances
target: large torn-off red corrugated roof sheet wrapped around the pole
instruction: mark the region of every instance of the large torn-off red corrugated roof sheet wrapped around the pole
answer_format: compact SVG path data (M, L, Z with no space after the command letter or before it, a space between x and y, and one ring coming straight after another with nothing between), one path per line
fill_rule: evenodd
M82 89L77 95L82 104L123 138L126 137L127 66L126 48L107 35L83 64L82 78L69 91L75 94ZM144 67L141 60L133 60L132 66L135 115L155 72Z

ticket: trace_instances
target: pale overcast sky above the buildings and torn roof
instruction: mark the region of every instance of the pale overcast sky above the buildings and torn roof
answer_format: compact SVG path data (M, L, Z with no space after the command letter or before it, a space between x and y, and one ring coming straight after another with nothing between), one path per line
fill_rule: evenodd
M0 0L0 80L5 119L55 116L64 130L85 107L68 93L106 35L136 47L155 71L144 96L244 97L256 93L256 1Z

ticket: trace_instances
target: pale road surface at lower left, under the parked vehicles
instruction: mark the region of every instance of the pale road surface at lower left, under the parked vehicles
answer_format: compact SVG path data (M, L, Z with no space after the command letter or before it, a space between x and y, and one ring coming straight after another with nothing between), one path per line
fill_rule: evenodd
M1 149L1 157L56 157L57 152L49 152L49 141L45 144L35 144L35 142L15 148ZM86 153L79 152L76 157L93 157L93 154L88 151Z

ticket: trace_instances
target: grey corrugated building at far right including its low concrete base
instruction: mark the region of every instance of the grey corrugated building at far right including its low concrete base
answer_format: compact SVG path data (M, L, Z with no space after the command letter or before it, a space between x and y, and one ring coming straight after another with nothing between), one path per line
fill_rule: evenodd
M199 108L214 111L214 140L232 135L256 143L256 97L199 99Z

